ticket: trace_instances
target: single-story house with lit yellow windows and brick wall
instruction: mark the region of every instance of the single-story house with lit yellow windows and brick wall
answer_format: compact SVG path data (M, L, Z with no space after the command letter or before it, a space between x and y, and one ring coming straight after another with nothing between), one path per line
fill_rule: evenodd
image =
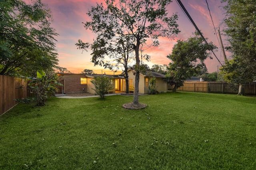
M58 73L60 78L60 82L63 84L60 87L59 93L80 93L80 92L88 92L94 94L94 85L90 82L94 78L102 75L98 74L74 74L74 73ZM120 75L103 75L108 76L113 79L113 89L109 90L109 93L116 92L125 92L125 79L124 76ZM133 70L128 70L129 76L129 92L134 92L135 86L135 75L133 74ZM139 93L147 94L148 86L150 82L150 78L156 77L156 87L158 92L166 92L167 91L167 82L164 80L165 76L158 72L147 72L146 75L140 73L140 82L139 82Z

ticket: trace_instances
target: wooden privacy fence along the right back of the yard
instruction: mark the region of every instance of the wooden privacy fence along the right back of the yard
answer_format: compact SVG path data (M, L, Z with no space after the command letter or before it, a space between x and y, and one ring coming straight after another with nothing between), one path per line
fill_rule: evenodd
M177 90L187 92L236 94L238 93L238 87L239 85L228 84L227 82L185 81L184 86ZM256 82L243 84L243 94L256 95Z

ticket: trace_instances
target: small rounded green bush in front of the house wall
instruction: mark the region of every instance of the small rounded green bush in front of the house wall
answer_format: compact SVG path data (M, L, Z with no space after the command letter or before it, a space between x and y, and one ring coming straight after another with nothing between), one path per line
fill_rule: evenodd
M92 84L94 84L95 88L92 88L95 91L95 95L99 95L101 99L105 98L108 90L112 90L112 78L107 76L96 77L94 80L91 80Z

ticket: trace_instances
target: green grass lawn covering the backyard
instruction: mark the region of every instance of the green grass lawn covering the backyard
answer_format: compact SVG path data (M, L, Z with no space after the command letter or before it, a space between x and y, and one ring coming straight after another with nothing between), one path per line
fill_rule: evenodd
M202 93L51 98L0 117L0 169L256 169L256 98Z

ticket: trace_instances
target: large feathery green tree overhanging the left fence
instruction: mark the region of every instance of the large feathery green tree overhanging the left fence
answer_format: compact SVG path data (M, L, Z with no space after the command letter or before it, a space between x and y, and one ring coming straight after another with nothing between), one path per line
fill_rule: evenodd
M40 0L0 1L0 74L29 76L58 63L58 34L50 27L52 15Z

